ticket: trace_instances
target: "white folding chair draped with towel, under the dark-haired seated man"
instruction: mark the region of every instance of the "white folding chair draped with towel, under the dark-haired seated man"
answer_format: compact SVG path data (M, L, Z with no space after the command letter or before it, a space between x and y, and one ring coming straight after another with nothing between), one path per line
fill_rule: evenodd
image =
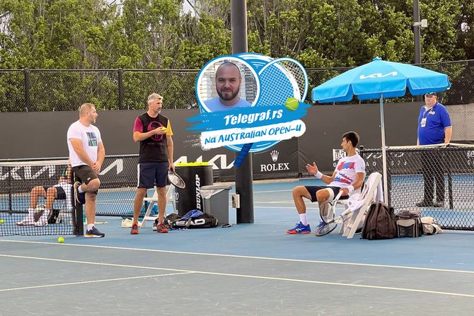
M372 172L367 180L364 182L364 189L362 192L352 192L349 199L340 199L342 192L337 194L337 197L330 204L333 206L329 216L334 216L337 204L346 206L340 218L342 219L342 226L340 233L347 238L354 238L357 229L362 227L364 223L367 209L373 201L376 200L376 190L381 181L382 175L378 172Z

